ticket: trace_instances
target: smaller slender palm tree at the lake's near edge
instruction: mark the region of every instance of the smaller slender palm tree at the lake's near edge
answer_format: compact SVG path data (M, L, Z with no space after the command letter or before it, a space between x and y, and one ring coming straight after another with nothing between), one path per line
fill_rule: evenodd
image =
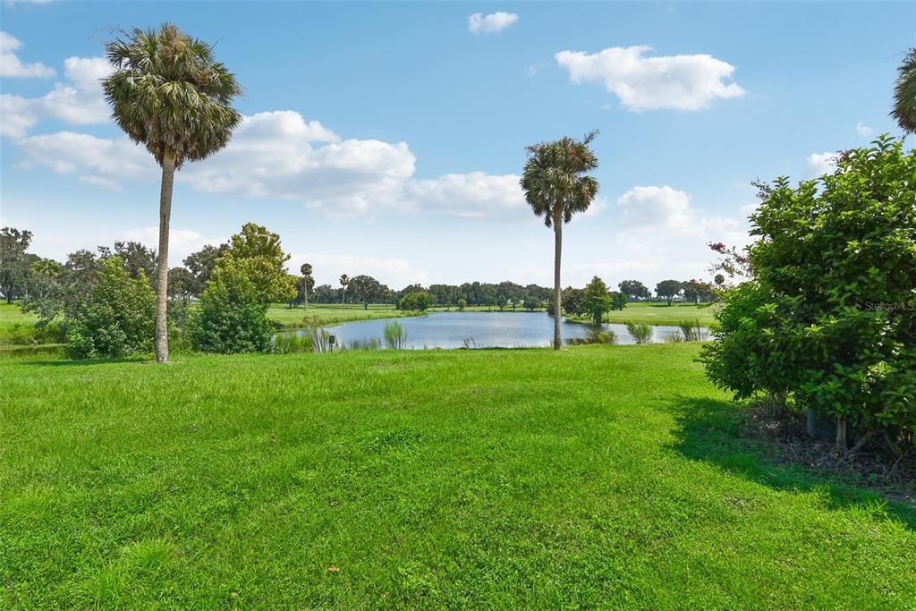
M529 158L520 180L525 199L544 224L553 227L553 348L562 347L560 324L562 304L560 259L562 225L573 220L573 214L588 210L598 192L598 181L585 173L598 167L598 158L589 148L597 136L593 131L576 140L563 137L528 147Z

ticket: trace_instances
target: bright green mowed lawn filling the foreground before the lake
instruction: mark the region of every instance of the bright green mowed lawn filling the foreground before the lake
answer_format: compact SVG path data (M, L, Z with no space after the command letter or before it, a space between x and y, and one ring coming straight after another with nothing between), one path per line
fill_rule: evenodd
M911 608L691 344L0 362L0 607Z

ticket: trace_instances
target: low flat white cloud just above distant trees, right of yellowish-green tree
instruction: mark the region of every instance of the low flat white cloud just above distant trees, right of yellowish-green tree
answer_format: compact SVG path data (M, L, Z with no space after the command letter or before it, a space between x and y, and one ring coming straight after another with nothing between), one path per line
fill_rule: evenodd
M398 257L292 253L287 268L298 274L303 263L311 263L314 267L316 284L330 284L335 288L339 286L337 278L340 278L341 274L351 277L365 274L394 290L402 289L414 282L426 283L430 279L428 271L413 267L407 259Z

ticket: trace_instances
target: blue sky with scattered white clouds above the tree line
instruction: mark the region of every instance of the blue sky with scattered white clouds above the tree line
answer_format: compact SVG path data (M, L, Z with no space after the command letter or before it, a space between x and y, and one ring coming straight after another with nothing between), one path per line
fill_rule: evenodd
M316 279L551 284L526 145L600 130L594 210L563 284L705 278L747 240L756 178L900 134L888 116L916 3L0 5L0 223L39 254L155 245L158 173L110 123L112 28L177 23L245 88L227 149L180 171L173 264L248 221ZM478 15L479 14L479 15ZM478 15L472 21L472 16ZM473 24L476 24L475 26Z

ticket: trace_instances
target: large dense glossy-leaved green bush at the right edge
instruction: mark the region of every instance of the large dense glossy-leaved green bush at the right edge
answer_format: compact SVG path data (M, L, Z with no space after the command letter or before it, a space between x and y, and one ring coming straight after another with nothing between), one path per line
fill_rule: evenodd
M891 438L916 431L916 152L881 136L834 174L773 183L751 216L756 278L724 293L714 382Z

